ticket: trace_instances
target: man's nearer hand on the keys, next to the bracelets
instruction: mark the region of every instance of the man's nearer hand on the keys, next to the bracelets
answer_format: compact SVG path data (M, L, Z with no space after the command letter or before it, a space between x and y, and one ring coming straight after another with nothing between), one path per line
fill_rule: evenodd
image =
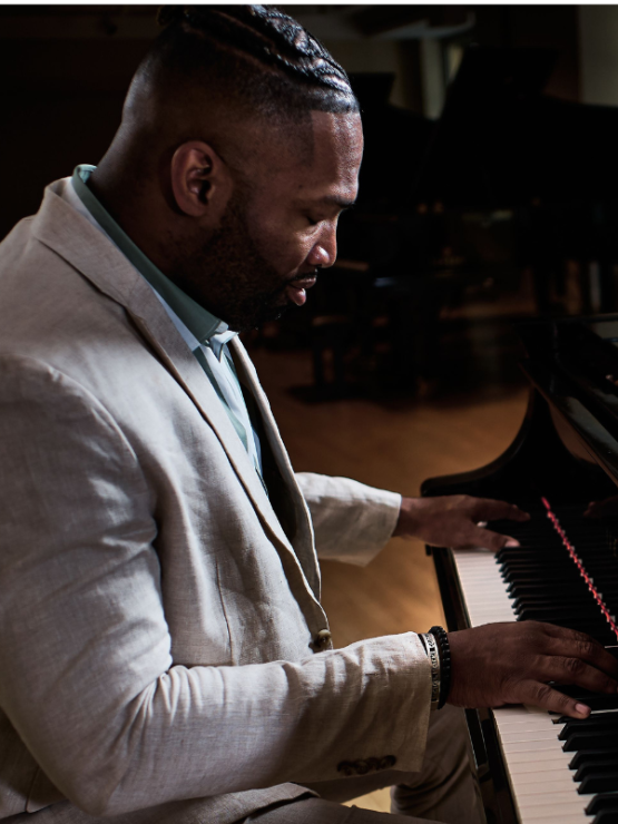
M488 624L449 632L452 676L449 704L500 707L532 704L586 718L590 708L548 686L575 684L618 691L618 663L590 636L551 624Z

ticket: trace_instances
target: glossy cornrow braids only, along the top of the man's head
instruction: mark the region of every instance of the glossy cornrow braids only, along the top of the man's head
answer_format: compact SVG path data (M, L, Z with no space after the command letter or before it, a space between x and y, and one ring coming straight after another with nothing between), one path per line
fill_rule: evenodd
M163 6L157 20L225 43L301 82L351 94L347 75L322 43L273 7Z

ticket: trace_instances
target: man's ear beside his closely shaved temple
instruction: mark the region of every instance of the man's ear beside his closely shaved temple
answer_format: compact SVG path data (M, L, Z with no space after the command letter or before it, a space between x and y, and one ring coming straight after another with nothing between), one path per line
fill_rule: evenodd
M171 190L180 212L218 222L232 195L226 164L208 144L189 140L171 158Z

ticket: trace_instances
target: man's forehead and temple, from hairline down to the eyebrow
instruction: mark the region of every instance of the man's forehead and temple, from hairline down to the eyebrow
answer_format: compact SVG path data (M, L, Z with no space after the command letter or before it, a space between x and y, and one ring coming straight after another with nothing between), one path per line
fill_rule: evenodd
M300 134L301 129L311 129L311 135ZM269 184L282 195L354 199L363 156L363 130L357 114L312 111L311 121L265 148Z

